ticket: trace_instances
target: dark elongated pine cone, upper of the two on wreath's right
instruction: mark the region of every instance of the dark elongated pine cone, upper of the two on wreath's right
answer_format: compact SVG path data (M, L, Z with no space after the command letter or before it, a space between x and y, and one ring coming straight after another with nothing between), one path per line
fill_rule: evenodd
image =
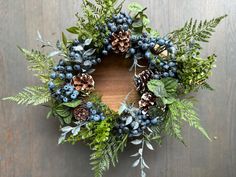
M134 81L135 81L135 85L137 90L143 94L144 92L146 92L147 89L147 83L148 81L151 80L151 78L153 77L153 72L149 69L142 71L138 76L135 76Z

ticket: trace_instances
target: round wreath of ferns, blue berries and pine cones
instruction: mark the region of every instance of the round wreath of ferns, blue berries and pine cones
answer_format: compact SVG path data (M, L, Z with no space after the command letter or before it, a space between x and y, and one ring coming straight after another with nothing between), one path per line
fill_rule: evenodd
M154 150L153 144L161 144L163 135L184 143L183 122L210 140L188 94L200 88L212 90L206 80L216 56L202 58L200 44L208 42L226 15L209 21L191 19L161 37L149 25L146 8L131 3L127 14L121 12L122 5L117 5L116 0L83 0L84 15L77 14L76 25L67 29L77 35L74 40L62 33L62 40L54 46L38 32L42 48L51 47L53 51L43 54L20 50L30 63L29 70L43 84L26 87L16 96L4 99L26 105L47 103L47 117L56 117L61 123L58 143L85 141L93 151L90 159L96 177L116 165L118 153L128 142L140 146L132 155L136 158L133 167L139 166L141 176L146 176L145 169L149 167L144 148ZM130 71L140 95L138 105L127 96L118 112L101 101L93 79L95 66L110 53L132 60ZM141 60L148 65L137 73Z

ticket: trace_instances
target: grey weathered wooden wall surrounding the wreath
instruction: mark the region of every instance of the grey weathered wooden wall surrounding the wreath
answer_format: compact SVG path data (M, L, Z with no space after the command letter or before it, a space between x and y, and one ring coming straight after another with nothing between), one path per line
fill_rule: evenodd
M127 0L125 6L131 2ZM196 96L204 127L213 142L184 128L187 147L166 138L155 152L145 152L149 177L236 176L236 0L138 0L148 7L152 24L165 34L191 17L229 17L217 28L204 55L216 53L217 68L210 83L214 92ZM73 25L80 0L0 0L0 97L17 93L38 80L16 45L37 47L36 31L50 41ZM122 88L121 88L122 89ZM107 95L109 96L109 95ZM83 144L57 145L58 122L46 120L43 107L0 102L0 177L91 177L90 151ZM120 155L120 163L105 177L137 177L131 169L132 146Z

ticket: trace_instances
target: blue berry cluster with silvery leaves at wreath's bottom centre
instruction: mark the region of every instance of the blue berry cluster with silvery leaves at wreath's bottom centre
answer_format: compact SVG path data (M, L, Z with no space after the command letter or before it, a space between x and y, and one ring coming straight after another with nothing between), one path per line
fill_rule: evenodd
M116 131L118 134L128 134L129 137L140 136L147 127L156 126L162 120L161 117L150 117L145 111L133 108L125 110L120 116Z

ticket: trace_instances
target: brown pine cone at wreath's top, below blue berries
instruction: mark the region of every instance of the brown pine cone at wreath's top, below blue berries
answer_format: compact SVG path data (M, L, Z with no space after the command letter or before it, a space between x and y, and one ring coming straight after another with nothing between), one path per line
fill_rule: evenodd
M130 48L130 31L119 31L111 37L112 49L115 53L125 53Z

